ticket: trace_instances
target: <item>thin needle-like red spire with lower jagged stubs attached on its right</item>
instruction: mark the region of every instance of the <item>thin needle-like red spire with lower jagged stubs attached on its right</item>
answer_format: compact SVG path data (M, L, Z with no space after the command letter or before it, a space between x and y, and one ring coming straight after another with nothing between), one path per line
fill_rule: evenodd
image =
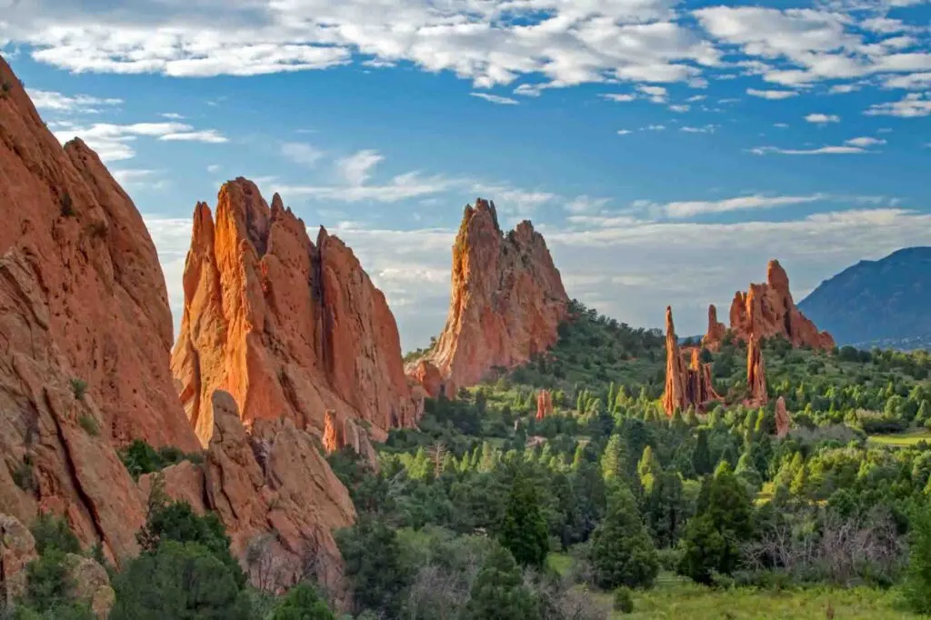
M691 361L686 363L685 356ZM672 322L672 308L666 308L666 390L663 392L663 409L672 415L677 409L685 411L695 407L704 411L709 402L720 400L711 381L711 365L701 363L699 351L680 351L676 328Z

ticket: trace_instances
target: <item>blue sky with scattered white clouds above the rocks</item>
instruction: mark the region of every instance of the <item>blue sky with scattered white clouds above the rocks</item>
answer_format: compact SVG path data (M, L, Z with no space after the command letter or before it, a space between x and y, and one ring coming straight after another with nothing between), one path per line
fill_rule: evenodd
M931 244L931 4L0 0L0 50L97 150L176 322L197 200L236 176L344 238L406 348L439 332L467 202L531 219L632 325L787 267L796 299ZM724 311L726 314L726 310Z

